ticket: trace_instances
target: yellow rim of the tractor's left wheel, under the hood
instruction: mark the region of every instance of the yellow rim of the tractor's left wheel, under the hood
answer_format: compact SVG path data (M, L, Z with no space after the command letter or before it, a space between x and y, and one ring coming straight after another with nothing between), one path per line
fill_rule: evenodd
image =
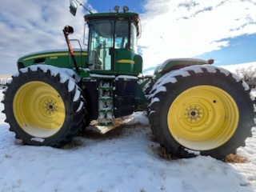
M33 137L48 138L62 128L65 105L62 97L45 82L27 82L14 96L14 117Z

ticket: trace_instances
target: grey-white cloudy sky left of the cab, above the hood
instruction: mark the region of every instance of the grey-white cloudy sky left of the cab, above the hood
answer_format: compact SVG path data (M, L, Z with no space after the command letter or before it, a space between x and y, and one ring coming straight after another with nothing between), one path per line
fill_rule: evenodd
M82 1L81 1L82 2ZM14 1L1 3L0 74L14 74L17 59L39 50L66 49L62 29L74 27L70 38L82 40L84 10L76 17L69 12L70 1ZM86 0L83 1L86 4Z

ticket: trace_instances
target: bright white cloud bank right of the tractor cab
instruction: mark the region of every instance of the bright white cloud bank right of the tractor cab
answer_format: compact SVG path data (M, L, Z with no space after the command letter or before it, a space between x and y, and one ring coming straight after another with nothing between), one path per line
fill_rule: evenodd
M194 57L256 33L255 2L147 0L141 15L144 69L167 58Z

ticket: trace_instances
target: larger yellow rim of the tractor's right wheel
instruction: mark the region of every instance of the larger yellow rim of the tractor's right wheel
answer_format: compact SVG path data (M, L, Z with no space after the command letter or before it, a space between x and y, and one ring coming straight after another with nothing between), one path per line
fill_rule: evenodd
M212 150L226 143L237 129L238 106L215 86L194 86L179 94L167 114L170 134L191 150Z

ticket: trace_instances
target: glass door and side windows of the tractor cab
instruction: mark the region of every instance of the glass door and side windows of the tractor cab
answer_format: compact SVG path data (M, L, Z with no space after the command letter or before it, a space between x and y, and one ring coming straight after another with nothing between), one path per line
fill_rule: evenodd
M111 70L113 51L136 50L136 27L123 19L91 20L89 32L89 68Z

